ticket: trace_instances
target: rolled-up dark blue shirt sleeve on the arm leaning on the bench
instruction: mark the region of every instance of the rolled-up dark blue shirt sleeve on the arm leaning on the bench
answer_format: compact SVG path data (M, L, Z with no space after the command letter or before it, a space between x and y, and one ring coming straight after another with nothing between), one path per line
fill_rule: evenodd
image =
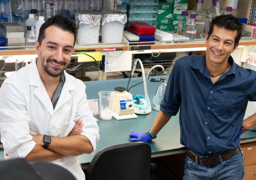
M180 101L180 67L179 63L176 61L168 79L160 110L166 115L175 116L179 110Z

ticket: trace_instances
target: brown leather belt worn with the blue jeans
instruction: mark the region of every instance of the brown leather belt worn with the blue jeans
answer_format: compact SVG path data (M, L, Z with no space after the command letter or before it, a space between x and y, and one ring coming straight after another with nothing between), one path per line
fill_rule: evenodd
M230 150L230 151L227 151L227 152L224 152L224 153L220 154L221 158L222 158L222 161L225 161L227 159L232 158L232 156L234 156L238 152L239 152L239 147L237 147L236 149L233 149L233 150ZM187 156L190 159L195 161L196 156L191 154L191 152L189 152L188 150L187 150ZM210 165L210 164L215 164L215 163L220 162L219 156L208 157L208 159L204 159L204 158L205 158L205 156L198 156L198 159L197 159L198 163L201 162L202 164Z

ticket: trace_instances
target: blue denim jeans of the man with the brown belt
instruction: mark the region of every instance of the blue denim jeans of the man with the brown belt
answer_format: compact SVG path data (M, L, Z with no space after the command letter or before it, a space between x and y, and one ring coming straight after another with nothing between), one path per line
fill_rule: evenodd
M202 165L186 156L183 180L243 180L245 170L241 151L228 160L222 161L221 157L220 160L215 164Z

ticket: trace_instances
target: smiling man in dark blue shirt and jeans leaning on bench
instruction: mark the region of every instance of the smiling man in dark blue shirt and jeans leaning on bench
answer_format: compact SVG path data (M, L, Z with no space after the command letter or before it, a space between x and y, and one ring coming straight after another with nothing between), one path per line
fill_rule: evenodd
M180 143L188 149L183 180L245 175L239 136L256 126L256 114L243 121L248 101L256 101L256 72L231 57L242 30L233 15L216 16L206 35L206 54L175 62L152 129L129 134L131 141L151 141L180 108Z

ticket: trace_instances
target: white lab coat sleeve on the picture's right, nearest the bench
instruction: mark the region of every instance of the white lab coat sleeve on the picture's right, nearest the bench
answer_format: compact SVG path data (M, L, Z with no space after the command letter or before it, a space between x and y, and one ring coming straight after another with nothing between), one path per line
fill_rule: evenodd
M83 132L81 135L85 135L89 139L93 147L93 152L91 154L94 154L96 150L96 142L99 140L99 127L96 121L93 119L92 111L89 110L89 102L85 93L85 84L82 81L79 92L80 97L75 121L82 120L84 123Z

